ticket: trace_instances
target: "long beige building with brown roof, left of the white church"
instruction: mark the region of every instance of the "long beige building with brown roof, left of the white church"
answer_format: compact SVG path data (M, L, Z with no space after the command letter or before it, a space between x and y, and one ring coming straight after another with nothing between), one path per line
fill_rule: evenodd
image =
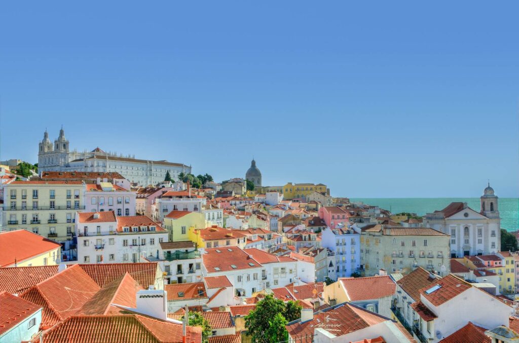
M407 274L418 267L445 276L450 271L450 235L420 227L375 225L362 231L361 265L366 276L385 269Z

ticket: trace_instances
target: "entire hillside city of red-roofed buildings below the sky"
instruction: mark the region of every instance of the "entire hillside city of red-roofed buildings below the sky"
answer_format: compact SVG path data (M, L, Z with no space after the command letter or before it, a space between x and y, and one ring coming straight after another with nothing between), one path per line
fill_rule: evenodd
M265 185L254 159L215 181L79 151L63 128L37 155L0 165L2 342L519 337L517 234L489 183L479 207L417 215Z

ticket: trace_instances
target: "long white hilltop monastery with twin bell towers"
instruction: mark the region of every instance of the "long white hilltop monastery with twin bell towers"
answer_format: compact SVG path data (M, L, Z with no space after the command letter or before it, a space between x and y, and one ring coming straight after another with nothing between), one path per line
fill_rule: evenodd
M71 151L62 128L54 143L50 142L45 131L38 144L38 171L40 174L44 171L117 172L131 183L147 186L164 181L168 171L173 180L178 180L180 173L191 173L191 167L166 160L142 160L107 153L100 148L82 153Z

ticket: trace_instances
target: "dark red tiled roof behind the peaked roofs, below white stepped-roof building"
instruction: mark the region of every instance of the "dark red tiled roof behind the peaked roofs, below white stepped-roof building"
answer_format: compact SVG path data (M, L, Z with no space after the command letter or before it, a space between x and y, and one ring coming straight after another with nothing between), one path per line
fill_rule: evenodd
M99 263L80 264L79 266L100 287L129 273L135 281L139 282L144 289L147 289L148 286L155 284L158 263Z

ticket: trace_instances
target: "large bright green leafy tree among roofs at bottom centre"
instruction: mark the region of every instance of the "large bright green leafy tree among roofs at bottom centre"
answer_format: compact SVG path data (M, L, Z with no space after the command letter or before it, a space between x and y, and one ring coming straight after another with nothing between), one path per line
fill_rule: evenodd
M285 304L283 301L275 299L272 294L268 294L257 303L256 309L245 316L245 329L247 329L248 334L252 337L253 342L271 342L265 333L275 331L274 328L270 328L270 321L276 318L277 314L283 313L284 309Z

